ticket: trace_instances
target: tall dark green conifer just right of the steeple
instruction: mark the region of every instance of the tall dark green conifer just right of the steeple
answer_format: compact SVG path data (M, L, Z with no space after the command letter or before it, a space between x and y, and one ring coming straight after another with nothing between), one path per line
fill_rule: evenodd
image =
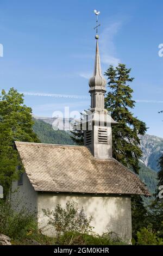
M105 75L109 80L105 108L118 122L118 125L112 127L113 157L124 166L133 169L135 173L139 173L142 151L138 135L144 135L147 127L131 113L135 101L132 100L133 89L128 83L134 78L130 77L130 69L124 64L118 64L116 68L110 66Z

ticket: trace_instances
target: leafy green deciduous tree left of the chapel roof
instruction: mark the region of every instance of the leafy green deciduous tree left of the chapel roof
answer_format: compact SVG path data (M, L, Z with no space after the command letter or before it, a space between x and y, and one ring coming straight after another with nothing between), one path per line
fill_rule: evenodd
M23 94L14 88L0 96L0 184L6 197L11 181L18 178L21 166L14 141L39 142L32 130L32 109L23 104Z

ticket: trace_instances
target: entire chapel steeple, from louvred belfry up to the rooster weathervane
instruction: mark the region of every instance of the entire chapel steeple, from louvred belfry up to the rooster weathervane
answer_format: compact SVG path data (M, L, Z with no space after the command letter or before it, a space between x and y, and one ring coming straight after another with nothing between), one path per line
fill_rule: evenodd
M112 132L111 126L116 125L105 109L104 94L106 92L106 80L102 76L97 34L99 11L94 11L97 17L96 29L96 56L93 76L89 80L91 94L91 109L82 122L84 127L84 145L90 149L96 159L107 160L112 157Z

